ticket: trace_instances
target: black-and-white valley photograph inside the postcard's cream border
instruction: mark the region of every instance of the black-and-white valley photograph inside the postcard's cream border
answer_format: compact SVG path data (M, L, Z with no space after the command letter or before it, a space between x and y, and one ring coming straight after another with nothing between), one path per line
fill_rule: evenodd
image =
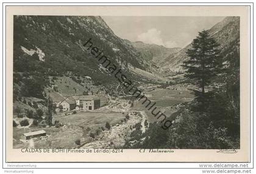
M240 17L14 16L24 147L240 149Z

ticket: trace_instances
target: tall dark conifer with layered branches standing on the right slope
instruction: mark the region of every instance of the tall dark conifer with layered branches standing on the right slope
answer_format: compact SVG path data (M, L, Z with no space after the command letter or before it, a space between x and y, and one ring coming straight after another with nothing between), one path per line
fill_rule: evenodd
M205 108L207 97L210 95L210 93L205 93L205 87L213 84L214 78L222 70L222 59L219 53L219 44L205 30L199 32L191 44L191 49L187 50L190 59L183 64L187 70L185 76L193 79L194 84L200 89L194 90L194 95L201 109Z

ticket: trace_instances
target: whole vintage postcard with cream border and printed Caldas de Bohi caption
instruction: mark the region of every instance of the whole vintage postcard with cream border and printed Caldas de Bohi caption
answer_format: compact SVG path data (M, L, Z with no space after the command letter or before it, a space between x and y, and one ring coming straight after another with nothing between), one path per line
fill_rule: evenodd
M249 7L6 10L7 162L249 161Z

